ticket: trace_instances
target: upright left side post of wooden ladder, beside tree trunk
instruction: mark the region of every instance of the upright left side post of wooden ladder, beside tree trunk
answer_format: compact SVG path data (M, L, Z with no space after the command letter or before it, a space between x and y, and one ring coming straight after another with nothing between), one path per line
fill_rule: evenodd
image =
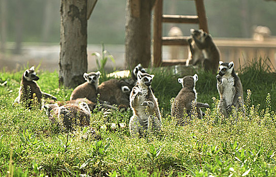
M162 11L163 0L157 0L154 9L153 66L162 64Z

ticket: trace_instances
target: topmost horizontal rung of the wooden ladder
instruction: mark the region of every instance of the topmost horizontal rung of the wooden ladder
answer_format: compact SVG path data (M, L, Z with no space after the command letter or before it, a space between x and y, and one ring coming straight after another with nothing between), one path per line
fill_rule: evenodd
M199 23L196 15L162 15L162 22L167 23Z

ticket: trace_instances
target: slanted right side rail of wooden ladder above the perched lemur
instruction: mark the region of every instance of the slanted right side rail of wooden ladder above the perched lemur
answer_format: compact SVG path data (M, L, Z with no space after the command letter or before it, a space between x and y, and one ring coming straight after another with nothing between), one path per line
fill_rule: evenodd
M195 0L195 6L199 19L199 29L209 33L203 0Z

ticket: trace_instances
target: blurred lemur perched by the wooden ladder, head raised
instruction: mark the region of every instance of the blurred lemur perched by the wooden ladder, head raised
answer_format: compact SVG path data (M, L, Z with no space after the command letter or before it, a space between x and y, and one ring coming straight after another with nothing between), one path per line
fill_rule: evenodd
M189 42L189 58L187 59L186 65L199 64L204 70L212 71L217 73L220 52L215 45L212 36L202 30L191 29L191 36Z

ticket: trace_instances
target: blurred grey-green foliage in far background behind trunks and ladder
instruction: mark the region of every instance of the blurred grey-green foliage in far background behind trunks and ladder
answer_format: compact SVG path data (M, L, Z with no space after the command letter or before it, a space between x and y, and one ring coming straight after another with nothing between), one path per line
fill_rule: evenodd
M210 33L214 37L251 37L254 25L267 26L271 35L276 35L274 1L205 0L204 4ZM98 1L88 21L88 43L124 44L125 7L125 0ZM21 33L23 42L59 42L60 1L7 1L6 9L7 41L15 41ZM193 1L164 0L163 11L164 14L196 14ZM167 35L174 25L164 24L163 35ZM187 24L177 26L184 35L189 35L190 28L198 28Z

